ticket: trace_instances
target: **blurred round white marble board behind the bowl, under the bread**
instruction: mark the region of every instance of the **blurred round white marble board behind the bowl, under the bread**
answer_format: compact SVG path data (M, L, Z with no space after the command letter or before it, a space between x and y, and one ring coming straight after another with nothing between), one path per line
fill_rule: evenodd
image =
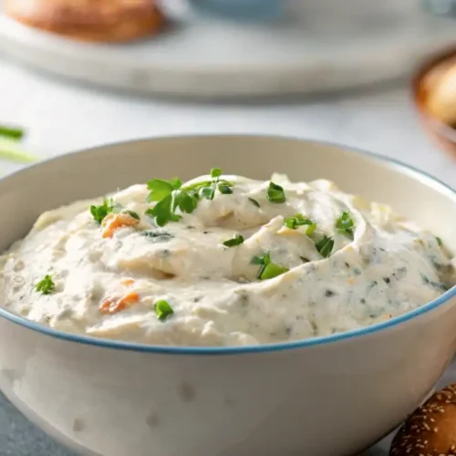
M454 22L426 14L418 4L289 0L285 16L271 24L178 8L180 17L168 31L128 45L73 42L0 14L0 50L60 77L137 93L311 93L403 77L418 59L454 42Z

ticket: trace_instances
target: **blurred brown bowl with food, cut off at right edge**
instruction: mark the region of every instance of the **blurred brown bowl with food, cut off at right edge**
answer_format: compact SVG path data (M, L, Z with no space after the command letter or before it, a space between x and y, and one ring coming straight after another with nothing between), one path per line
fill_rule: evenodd
M412 79L411 90L424 130L456 158L456 47L425 61Z

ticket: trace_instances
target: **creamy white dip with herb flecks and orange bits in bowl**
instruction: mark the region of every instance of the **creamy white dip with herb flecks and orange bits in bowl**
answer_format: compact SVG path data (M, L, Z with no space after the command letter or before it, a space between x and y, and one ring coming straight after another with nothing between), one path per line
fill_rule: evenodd
M222 179L229 181L225 194L215 187L212 200L201 195L192 213L177 208L181 218L162 227L145 213L156 204L147 201L145 184L110 195L116 213L101 224L90 206L102 199L43 213L0 257L1 302L71 333L238 346L368 326L422 306L456 283L440 239L389 206L324 180L273 176L283 192L271 193L270 181ZM287 219L295 214L301 216L295 221L310 220L293 226ZM233 246L223 244L231 239Z

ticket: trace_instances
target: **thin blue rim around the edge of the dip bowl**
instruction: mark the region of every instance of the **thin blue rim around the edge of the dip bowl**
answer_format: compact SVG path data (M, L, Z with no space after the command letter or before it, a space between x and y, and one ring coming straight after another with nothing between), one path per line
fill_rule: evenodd
M39 161L31 166L28 166L26 169L19 170L13 172L6 176L4 179L8 179L9 176L13 176L17 173L25 172L27 170L33 169L35 167L39 167L40 165L46 163L47 161L58 161L64 157L72 156L72 155L79 155L83 153L93 153L96 150L107 149L113 146L128 146L133 143L142 142L142 141L153 141L153 140L182 140L182 139L211 139L211 138L245 138L245 139L275 139L275 140L297 140L302 142L303 144L312 143L312 144L321 144L331 147L336 147L340 150L345 150L348 153L354 153L358 155L362 155L364 157L374 159L376 161L380 161L385 164L393 165L395 168L399 168L401 171L405 171L408 174L411 174L416 179L422 181L428 181L433 186L436 184L440 187L440 190L443 189L446 192L450 192L452 196L456 199L456 190L451 188L446 183L440 181L439 179L431 176L425 171L418 170L413 166L410 166L402 161L392 159L389 157L385 157L379 155L374 152L368 152L366 150L360 150L356 147L345 146L343 144L337 144L335 142L325 141L325 140L309 140L305 138L297 138L291 136L280 136L280 135L248 135L248 134L220 134L220 135L182 135L182 136L161 136L161 137L154 137L154 138L144 138L140 140L128 140L128 141L120 141L115 143L109 143L106 145L85 149L85 150L76 150L73 152L69 152L64 155L60 155L58 157L54 157L51 159L47 159L44 161ZM3 181L3 179L2 179ZM455 201L456 204L456 201ZM4 307L0 306L0 317L4 317L6 320L9 320L13 323L16 323L19 326L24 326L27 329L31 329L32 331L36 331L38 333L44 334L48 337L54 337L60 340L65 340L67 342L76 342L78 344L84 344L88 346L94 347L104 347L104 348L112 348L112 349L119 349L119 350L126 350L126 351L134 351L134 352L141 352L141 353L155 353L155 354L164 354L164 355L209 355L209 356L220 356L220 355L243 355L249 353L271 353L276 351L282 350L290 350L295 348L306 348L306 347L316 347L325 344L340 342L352 339L354 337L361 337L361 336L368 336L370 334L377 333L383 329L391 328L394 326L398 326L402 323L405 323L417 316L421 316L423 314L427 314L430 310L435 309L436 307L442 306L445 303L448 303L451 298L456 297L456 285L452 286L450 290L447 290L445 293L440 295L437 299L430 301L429 303L420 306L411 312L407 312L401 316L396 316L391 318L388 321L377 323L370 326L364 326L357 329L353 329L351 331L346 331L343 333L337 333L330 336L323 336L323 337L313 337L303 340L294 340L291 342L280 342L277 344L263 344L263 345L252 345L252 346L241 346L241 347L168 347L168 346L154 346L154 345L147 345L147 344L138 344L133 342L124 342L121 340L110 340L98 337L89 337L89 336L80 336L77 334L65 333L63 331L59 331L57 329L53 329L44 325L40 325L36 322L27 320L23 316L18 316L7 311Z

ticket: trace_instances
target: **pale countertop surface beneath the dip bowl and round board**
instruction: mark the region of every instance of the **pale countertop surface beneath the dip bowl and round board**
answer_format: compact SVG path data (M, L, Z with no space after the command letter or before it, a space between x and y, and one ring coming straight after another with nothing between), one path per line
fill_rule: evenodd
M268 133L340 142L394 157L456 185L456 161L420 130L406 84L313 100L196 105L127 98L69 86L2 60L0 124L27 130L26 145L43 158L67 150L161 135ZM19 168L0 162L5 174ZM441 383L456 380L456 367ZM368 456L386 456L383 440ZM0 395L0 456L69 456Z

